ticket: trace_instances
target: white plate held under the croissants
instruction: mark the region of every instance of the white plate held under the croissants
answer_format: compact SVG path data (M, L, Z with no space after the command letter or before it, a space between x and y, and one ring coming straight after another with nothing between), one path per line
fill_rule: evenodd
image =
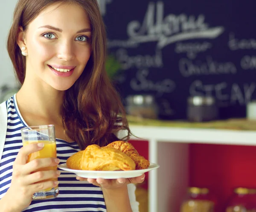
M134 178L150 170L157 169L158 164L150 163L148 169L143 170L129 170L129 171L88 171L88 170L73 170L67 167L67 164L58 165L61 170L72 172L82 178L103 178L103 179L117 179L117 178Z

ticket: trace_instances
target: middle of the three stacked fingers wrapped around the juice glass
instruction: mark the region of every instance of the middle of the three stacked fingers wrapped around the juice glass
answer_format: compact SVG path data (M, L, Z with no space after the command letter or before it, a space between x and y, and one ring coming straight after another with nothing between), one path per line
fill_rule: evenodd
M52 178L58 178L60 173L61 172L58 170L38 171L31 175L26 175L26 177L24 177L24 184L27 184L27 185L35 184L40 181L45 181Z

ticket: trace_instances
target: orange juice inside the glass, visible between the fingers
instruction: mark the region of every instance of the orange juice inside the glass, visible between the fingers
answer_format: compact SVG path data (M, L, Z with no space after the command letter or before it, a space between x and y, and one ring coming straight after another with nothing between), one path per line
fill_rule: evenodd
M32 143L44 143L44 148L42 150L39 150L38 152L29 154L27 163L37 158L56 158L57 157L55 141L24 141L23 146L26 146ZM57 170L57 166L44 167L36 171L48 171L48 170ZM54 178L50 180L58 181L58 178Z

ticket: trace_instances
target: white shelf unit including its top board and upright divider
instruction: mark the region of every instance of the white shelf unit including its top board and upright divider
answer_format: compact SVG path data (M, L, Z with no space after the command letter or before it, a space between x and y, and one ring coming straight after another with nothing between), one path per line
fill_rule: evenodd
M139 137L131 139L149 141L149 161L160 164L149 172L149 212L178 211L189 182L189 143L256 146L256 131L135 125L130 129Z

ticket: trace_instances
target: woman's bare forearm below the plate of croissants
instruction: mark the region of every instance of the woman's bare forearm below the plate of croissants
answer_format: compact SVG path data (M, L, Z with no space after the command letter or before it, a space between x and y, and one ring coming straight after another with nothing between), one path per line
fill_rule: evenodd
M102 188L107 212L132 212L127 186L119 189Z

